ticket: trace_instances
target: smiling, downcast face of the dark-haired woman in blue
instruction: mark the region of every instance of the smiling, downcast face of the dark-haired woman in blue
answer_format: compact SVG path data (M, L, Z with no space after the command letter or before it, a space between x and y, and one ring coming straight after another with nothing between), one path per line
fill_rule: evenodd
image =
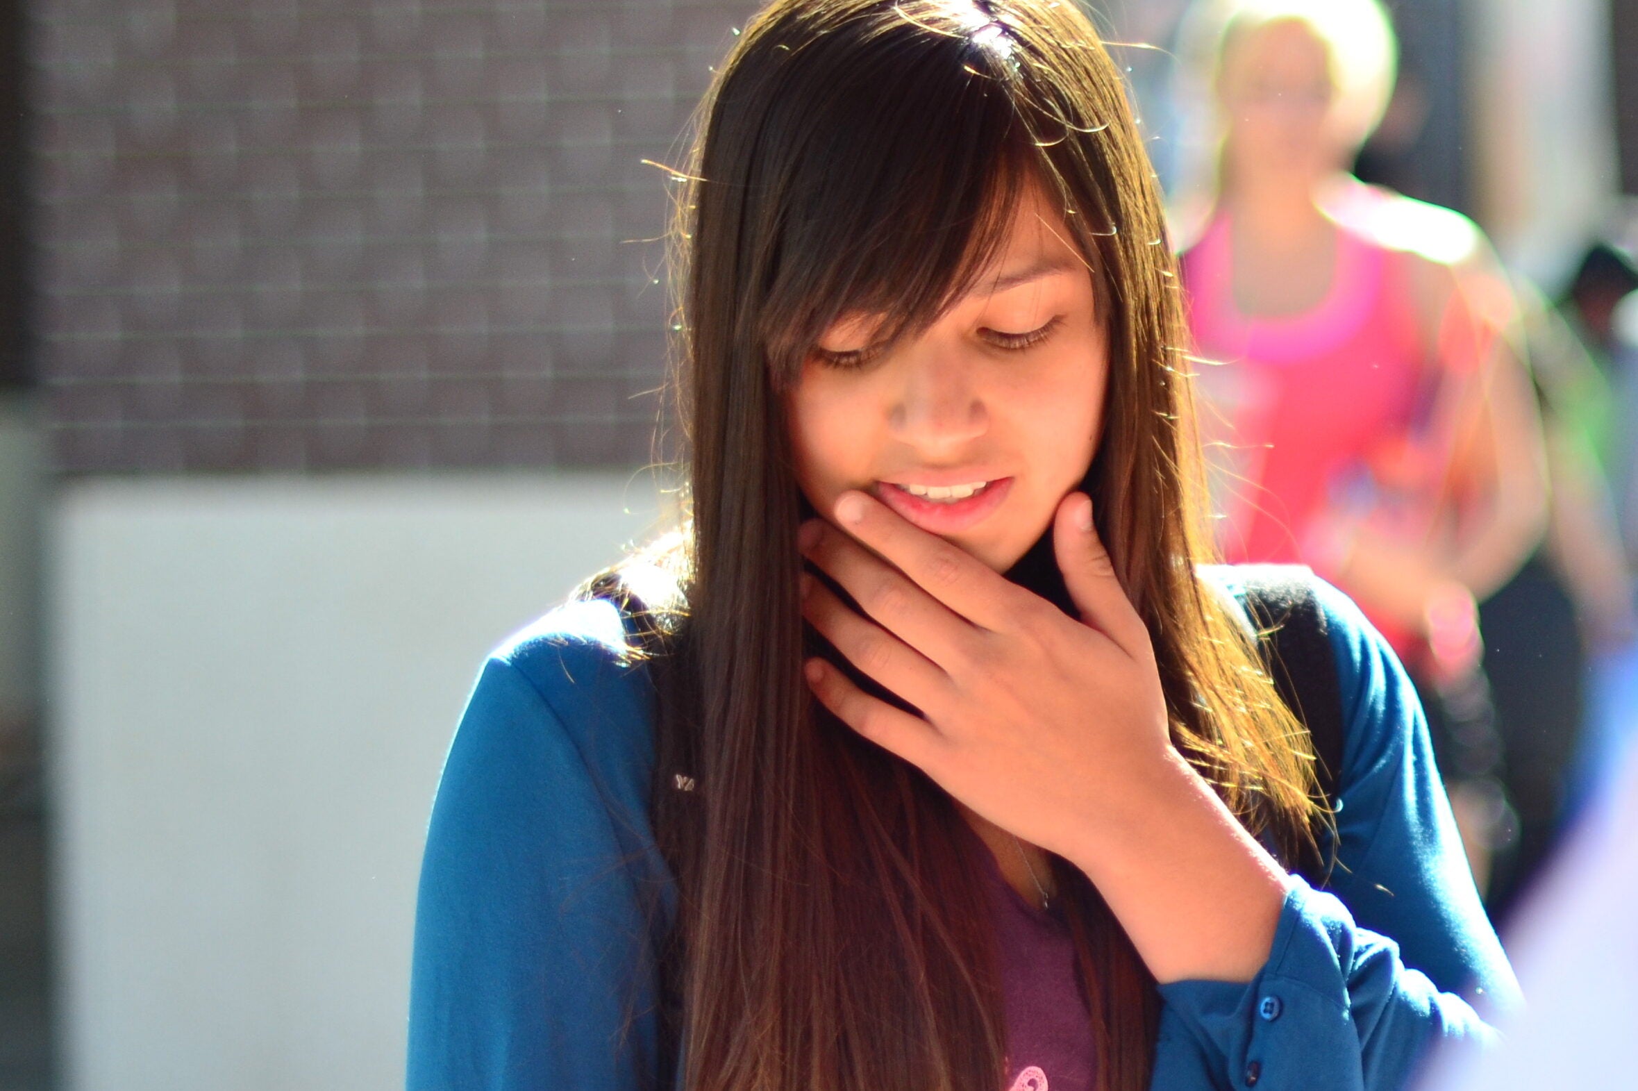
M871 493L1004 572L1045 532L1097 449L1107 378L1093 275L1030 187L999 254L916 339L873 347L845 316L790 392L796 475L830 518Z

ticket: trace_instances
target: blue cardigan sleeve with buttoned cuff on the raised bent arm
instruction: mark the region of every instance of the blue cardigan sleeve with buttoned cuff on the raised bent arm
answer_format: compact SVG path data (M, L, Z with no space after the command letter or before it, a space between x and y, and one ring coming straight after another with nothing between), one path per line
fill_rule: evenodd
M1338 867L1330 890L1291 878L1250 983L1161 986L1156 1089L1402 1088L1433 1042L1489 1040L1518 1004L1415 690L1353 601L1315 590L1345 706Z

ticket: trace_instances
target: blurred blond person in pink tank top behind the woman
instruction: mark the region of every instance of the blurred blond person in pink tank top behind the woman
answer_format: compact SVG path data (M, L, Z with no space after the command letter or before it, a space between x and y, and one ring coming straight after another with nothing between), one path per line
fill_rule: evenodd
M1219 0L1183 34L1220 131L1181 223L1220 546L1310 564L1399 652L1482 890L1515 831L1477 603L1546 519L1517 305L1469 220L1348 172L1394 85L1376 0Z

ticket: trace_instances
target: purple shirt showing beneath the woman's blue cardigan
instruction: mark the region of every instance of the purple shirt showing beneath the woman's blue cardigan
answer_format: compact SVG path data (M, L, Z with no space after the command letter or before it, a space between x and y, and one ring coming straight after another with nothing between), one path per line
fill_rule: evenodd
M1063 909L1012 890L983 840L980 871L996 919L1007 1024L1006 1091L1093 1091L1093 1034Z

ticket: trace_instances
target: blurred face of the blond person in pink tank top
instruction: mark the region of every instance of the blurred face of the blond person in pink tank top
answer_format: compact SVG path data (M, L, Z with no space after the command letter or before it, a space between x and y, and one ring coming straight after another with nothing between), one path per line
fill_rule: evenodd
M1237 177L1314 179L1351 152L1330 54L1302 23L1269 23L1230 41L1217 97Z

